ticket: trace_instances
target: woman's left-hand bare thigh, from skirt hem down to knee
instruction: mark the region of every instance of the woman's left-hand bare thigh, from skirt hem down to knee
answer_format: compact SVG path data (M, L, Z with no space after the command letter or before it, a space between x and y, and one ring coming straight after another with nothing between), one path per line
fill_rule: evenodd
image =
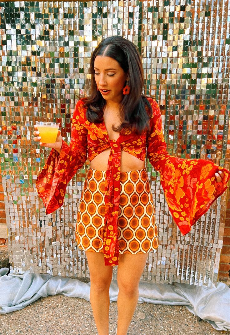
M86 251L85 254L89 265L91 283L99 286L110 285L113 267L105 265L104 254L93 251Z

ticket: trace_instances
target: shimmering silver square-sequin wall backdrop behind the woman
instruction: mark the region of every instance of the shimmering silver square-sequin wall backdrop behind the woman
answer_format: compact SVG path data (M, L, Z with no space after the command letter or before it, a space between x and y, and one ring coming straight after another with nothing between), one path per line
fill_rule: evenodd
M64 205L46 215L35 182L49 149L33 141L33 125L60 122L69 143L76 94L84 93L90 56L102 38L123 35L137 45L144 92L161 108L168 151L229 168L228 12L225 0L0 2L1 171L11 271L89 277L74 241L89 165L70 181ZM146 163L160 247L149 254L142 280L217 282L227 192L183 237L159 174Z

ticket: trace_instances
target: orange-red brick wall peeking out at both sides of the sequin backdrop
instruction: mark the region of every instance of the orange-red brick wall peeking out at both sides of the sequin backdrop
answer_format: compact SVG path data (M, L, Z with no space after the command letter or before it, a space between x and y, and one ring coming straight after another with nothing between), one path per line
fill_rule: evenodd
M228 207L225 220L223 249L221 252L221 262L219 270L219 279L228 278L230 276L230 192L228 192ZM4 195L2 187L2 179L0 175L0 245L6 243L6 214L4 206Z

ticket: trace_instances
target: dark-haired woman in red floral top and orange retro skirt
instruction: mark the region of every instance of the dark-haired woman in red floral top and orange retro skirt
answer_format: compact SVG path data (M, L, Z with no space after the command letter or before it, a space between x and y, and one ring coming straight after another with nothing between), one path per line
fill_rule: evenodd
M126 335L137 305L148 252L158 248L153 197L145 156L161 173L171 214L183 235L226 189L229 172L203 159L170 156L160 109L142 94L137 48L121 36L103 40L89 69L90 94L76 104L71 142L52 148L36 187L51 213L64 201L67 183L90 159L76 225L91 279L90 301L99 335L109 334L109 287L118 265L117 335ZM40 141L36 126L35 141Z

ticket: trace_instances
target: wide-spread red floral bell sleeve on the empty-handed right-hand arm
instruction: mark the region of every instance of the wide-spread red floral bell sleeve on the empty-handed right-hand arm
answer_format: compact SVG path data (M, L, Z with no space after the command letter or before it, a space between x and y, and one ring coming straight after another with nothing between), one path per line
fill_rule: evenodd
M150 103L153 115L147 135L147 157L160 172L169 210L182 235L185 235L226 190L230 172L206 159L171 156L166 150L160 108L155 100ZM224 174L220 183L215 177L219 170Z

